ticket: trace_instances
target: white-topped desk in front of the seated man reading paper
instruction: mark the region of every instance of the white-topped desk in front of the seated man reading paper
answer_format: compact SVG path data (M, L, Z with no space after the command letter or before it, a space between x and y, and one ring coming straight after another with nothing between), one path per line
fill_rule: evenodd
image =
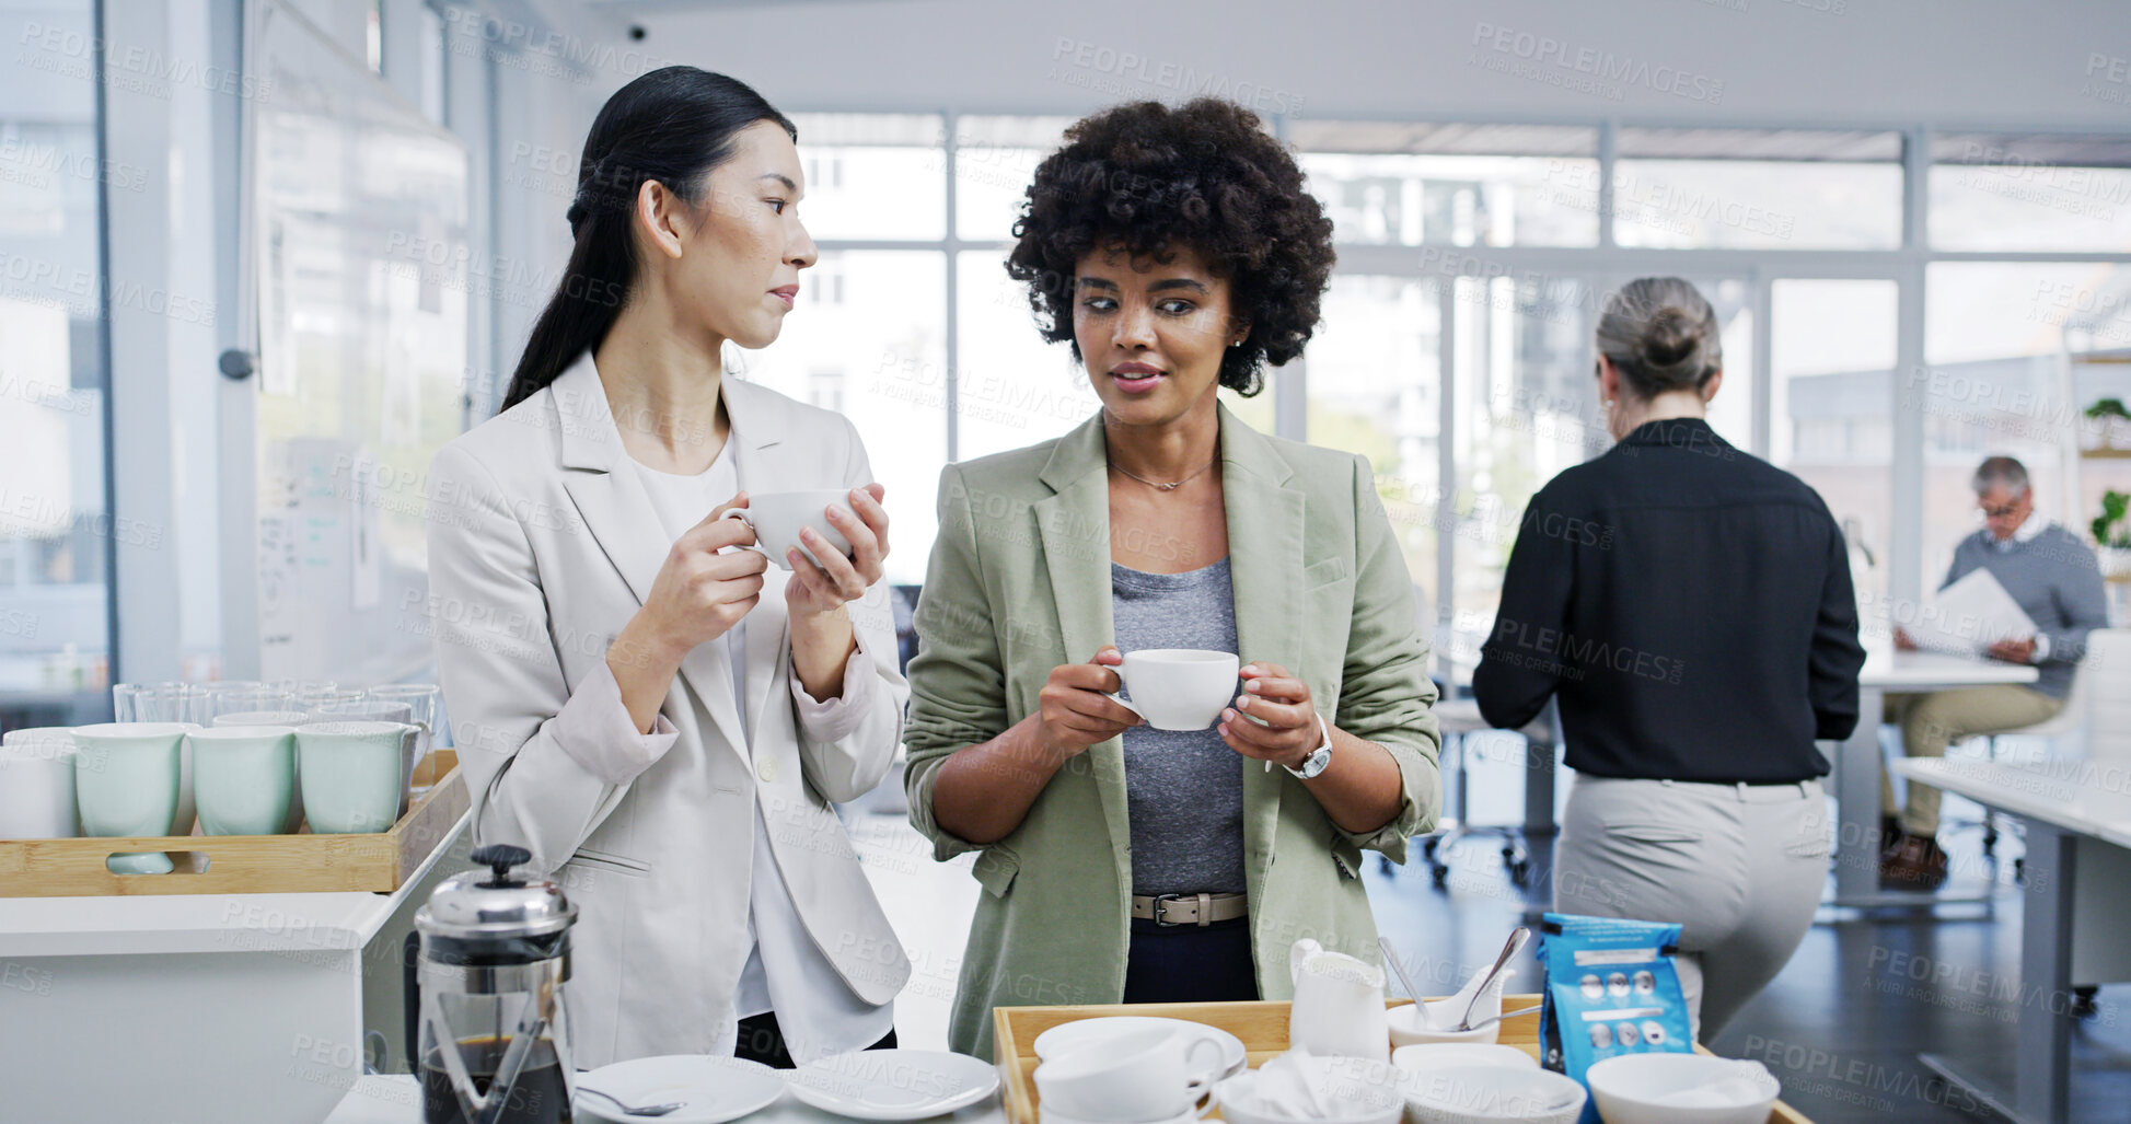
M1858 672L1858 727L1835 753L1835 906L1931 906L1954 898L1880 889L1880 714L1888 695L2035 683L2035 668L1937 653L1871 653Z

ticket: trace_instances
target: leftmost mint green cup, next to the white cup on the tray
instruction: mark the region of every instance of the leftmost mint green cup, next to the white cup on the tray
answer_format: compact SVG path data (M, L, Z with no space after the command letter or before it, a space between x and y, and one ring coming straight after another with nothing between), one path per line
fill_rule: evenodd
M83 836L168 836L188 723L102 723L75 727L75 800ZM160 851L111 855L113 874L168 874Z

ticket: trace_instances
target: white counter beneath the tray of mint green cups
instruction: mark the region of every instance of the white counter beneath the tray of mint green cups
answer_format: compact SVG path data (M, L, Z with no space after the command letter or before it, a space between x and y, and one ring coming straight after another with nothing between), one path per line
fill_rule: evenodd
M0 898L0 1118L324 1120L364 1026L392 1054L401 936L465 825L394 894Z

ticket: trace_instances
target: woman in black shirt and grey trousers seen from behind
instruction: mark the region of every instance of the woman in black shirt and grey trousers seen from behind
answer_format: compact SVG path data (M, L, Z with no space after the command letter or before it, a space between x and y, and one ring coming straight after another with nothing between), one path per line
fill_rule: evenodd
M1553 904L1683 924L1681 983L1713 1039L1820 902L1813 740L1858 721L1856 595L1826 503L1705 420L1724 360L1692 284L1624 286L1598 354L1617 444L1526 508L1473 695L1504 729L1560 700L1577 781Z

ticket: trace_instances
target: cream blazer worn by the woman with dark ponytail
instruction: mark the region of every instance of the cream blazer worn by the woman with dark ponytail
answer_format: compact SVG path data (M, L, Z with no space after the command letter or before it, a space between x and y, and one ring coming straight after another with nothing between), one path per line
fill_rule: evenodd
M742 488L872 480L842 414L733 378L722 395ZM733 1051L757 802L808 934L852 992L889 1002L910 977L829 806L880 783L901 736L910 689L886 587L850 606L848 706L801 714L788 572L771 567L748 614L746 700L733 697L725 644L703 644L641 734L607 648L669 546L590 356L430 463L430 625L473 836L533 851L578 904L567 1017L582 1069Z

